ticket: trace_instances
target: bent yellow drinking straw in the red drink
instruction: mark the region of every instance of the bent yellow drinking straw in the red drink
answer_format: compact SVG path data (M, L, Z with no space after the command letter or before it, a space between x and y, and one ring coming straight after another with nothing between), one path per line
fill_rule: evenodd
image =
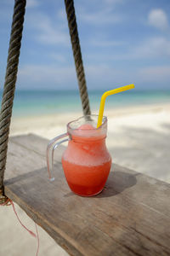
M128 84L126 86L119 87L119 88L116 88L114 90L107 90L107 91L105 91L105 93L101 96L97 128L99 128L99 126L102 125L102 119L103 119L103 114L104 114L105 99L106 99L106 97L110 96L112 94L116 94L116 93L122 92L124 90L130 90L130 89L133 89L133 88L134 88L134 84Z

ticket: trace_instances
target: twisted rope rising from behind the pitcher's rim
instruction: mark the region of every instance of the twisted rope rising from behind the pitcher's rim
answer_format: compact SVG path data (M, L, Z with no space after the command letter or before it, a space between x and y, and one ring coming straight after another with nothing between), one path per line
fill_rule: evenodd
M78 38L77 20L75 15L73 0L65 0L65 9L67 14L68 26L71 35L72 51L77 70L77 79L82 100L82 110L84 115L90 114L90 106L88 101L88 90L86 85L85 73L82 64L82 53Z

